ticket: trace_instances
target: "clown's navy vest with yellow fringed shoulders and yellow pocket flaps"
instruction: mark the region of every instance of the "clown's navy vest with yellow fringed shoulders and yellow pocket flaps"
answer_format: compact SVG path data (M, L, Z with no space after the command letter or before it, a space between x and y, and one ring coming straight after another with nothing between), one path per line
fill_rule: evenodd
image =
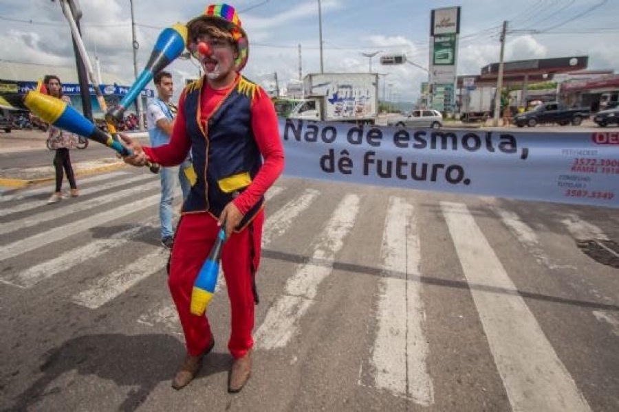
M188 84L185 90L186 128L197 180L182 211L208 211L218 218L224 207L252 183L262 165L251 117L252 100L259 88L239 76L213 113L200 121L200 95L204 89L200 79ZM237 229L245 227L263 203L261 198Z

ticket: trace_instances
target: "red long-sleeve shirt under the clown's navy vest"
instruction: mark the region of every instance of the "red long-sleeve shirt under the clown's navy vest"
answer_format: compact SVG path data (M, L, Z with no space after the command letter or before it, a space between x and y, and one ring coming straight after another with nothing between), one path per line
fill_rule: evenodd
M208 83L206 84L206 91L203 91L200 96L200 107L202 108L200 123L213 113L217 104L236 84L237 82L234 82L230 87L224 89L213 89ZM186 130L184 102L185 93L183 92L178 102L178 112L170 143L156 148L144 147L146 156L162 166L179 165L186 159L191 148L191 140ZM261 196L279 177L284 166L277 115L269 96L262 88L259 88L259 93L255 94L251 111L252 131L264 163L248 188L233 201L242 214L246 214L259 201Z

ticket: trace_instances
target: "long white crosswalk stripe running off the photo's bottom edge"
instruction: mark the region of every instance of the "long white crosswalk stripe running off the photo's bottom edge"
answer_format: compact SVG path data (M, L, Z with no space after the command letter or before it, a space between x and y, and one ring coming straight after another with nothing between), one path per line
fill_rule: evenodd
M441 209L514 409L590 411L466 205Z

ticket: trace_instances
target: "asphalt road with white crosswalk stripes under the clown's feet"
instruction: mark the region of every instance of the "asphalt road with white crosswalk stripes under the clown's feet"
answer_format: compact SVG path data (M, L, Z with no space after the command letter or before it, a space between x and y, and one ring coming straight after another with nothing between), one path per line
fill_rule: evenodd
M0 196L2 410L619 410L619 259L596 261L617 251L614 209L280 179L253 374L231 396L225 284L215 350L170 387L184 345L157 177L80 188Z

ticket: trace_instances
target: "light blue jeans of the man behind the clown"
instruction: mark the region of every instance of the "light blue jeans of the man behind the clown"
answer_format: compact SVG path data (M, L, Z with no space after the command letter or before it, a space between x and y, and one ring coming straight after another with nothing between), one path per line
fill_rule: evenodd
M191 162L184 161L180 167L177 168L161 168L159 171L159 178L161 180L161 200L159 202L159 219L161 221L161 238L174 235L174 228L172 226L172 218L174 216L173 203L174 203L174 190L176 188L176 176L178 175L178 181L180 182L181 190L183 193L183 201L187 198L191 185L187 180L183 170Z

